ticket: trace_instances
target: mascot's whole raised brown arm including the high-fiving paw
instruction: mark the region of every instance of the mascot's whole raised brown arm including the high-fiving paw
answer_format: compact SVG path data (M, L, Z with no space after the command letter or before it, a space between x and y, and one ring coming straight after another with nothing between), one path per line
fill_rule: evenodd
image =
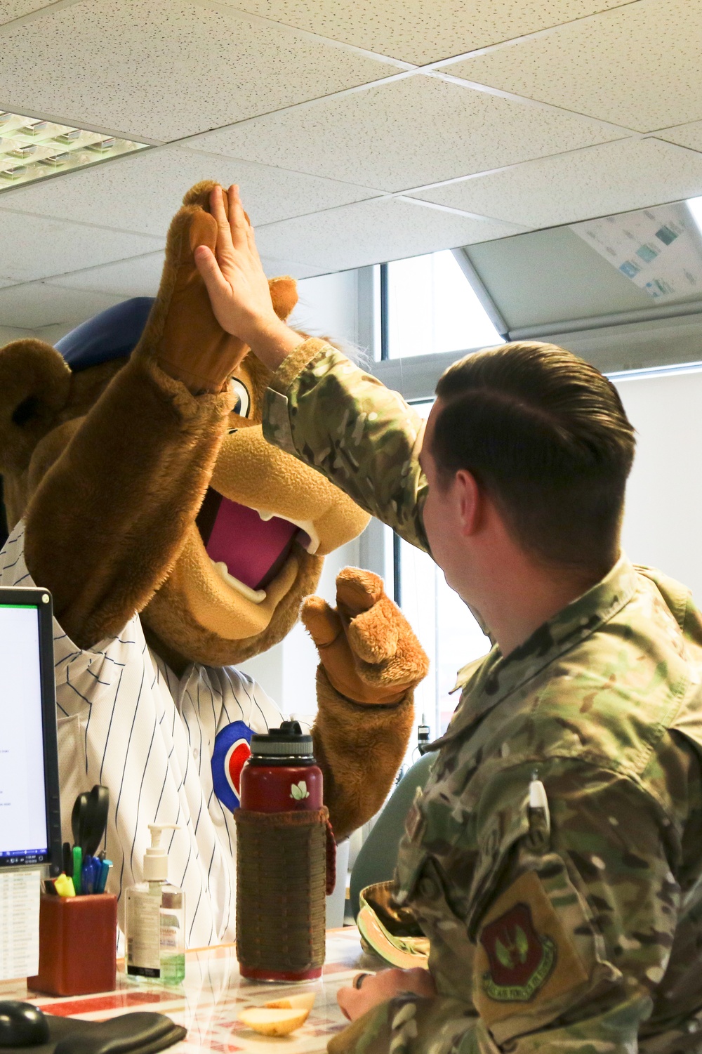
M130 362L80 427L46 436L30 468L27 568L80 647L118 633L168 575L234 404L227 378L246 348L215 319L193 261L195 246L216 242L213 186L189 191L171 223L158 296ZM294 281L273 282L271 296L285 317Z

